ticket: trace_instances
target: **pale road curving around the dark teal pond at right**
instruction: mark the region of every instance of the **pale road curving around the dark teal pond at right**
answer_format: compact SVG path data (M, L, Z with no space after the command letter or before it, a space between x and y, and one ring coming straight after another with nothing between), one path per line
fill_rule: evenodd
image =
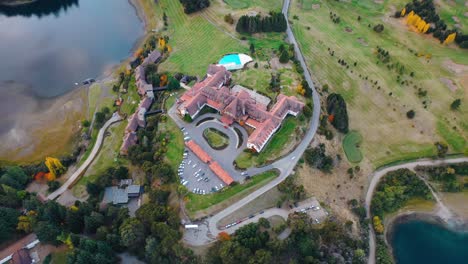
M414 170L416 166L434 166L434 165L441 165L441 164L450 164L450 163L460 163L460 162L468 162L468 157L463 158L453 158L453 159L440 159L440 160L431 160L431 159L421 159L416 160L400 165L384 167L372 173L370 176L372 178L369 187L366 193L366 200L365 200L365 207L367 211L367 218L370 218L370 204L372 200L372 196L374 194L375 187L380 179L385 176L388 172L398 170L398 169L410 169ZM372 225L369 224L369 259L368 264L375 263L375 233Z

